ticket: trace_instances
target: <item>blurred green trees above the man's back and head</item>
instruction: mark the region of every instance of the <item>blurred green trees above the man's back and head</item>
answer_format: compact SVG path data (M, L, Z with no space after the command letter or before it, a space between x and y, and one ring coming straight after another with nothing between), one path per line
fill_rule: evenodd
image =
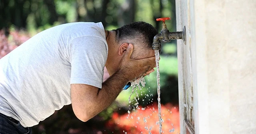
M105 27L145 21L160 30L156 18L170 16L175 30L175 0L1 0L0 29L10 26L42 31L68 22L102 22Z

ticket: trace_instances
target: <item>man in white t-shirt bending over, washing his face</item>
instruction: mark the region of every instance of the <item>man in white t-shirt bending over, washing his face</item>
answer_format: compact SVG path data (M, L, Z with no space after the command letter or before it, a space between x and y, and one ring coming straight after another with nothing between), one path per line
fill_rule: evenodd
M71 103L80 120L94 117L129 81L154 71L156 34L146 22L112 31L76 22L30 38L0 59L0 134L31 133ZM110 77L102 83L104 66Z

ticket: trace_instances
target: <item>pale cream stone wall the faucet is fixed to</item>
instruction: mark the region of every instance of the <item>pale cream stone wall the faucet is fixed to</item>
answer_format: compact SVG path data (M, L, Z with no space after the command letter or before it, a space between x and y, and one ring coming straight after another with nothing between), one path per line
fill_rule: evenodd
M256 134L256 0L176 0L176 18L181 134Z

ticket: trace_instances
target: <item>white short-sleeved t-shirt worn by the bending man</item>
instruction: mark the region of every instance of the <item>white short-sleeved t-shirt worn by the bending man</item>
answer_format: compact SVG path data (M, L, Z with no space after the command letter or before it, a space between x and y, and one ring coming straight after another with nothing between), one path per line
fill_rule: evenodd
M108 45L102 23L38 33L0 59L0 112L31 127L71 104L70 84L102 88Z

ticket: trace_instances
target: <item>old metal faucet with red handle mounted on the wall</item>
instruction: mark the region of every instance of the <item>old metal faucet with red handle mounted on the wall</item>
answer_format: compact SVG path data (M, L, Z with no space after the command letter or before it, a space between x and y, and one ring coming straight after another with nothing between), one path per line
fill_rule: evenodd
M172 39L183 39L184 44L186 45L186 28L184 26L183 31L180 32L169 32L166 27L165 20L170 20L170 17L166 18L157 18L156 21L163 21L162 30L160 33L156 34L153 43L152 49L153 50L160 50L161 49L161 42L170 42Z

